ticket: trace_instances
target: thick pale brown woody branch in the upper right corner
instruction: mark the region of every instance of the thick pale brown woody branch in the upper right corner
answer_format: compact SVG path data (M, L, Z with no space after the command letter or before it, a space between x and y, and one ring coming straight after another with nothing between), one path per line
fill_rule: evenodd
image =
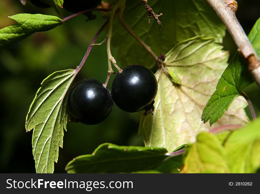
M260 87L260 60L251 42L248 40L246 33L235 16L235 9L237 9L237 5L235 5L236 2L233 1L234 3L230 4L230 0L206 1L222 20L223 24L237 45L239 52L247 61L248 70L251 72L254 80ZM236 6L235 9L234 6Z

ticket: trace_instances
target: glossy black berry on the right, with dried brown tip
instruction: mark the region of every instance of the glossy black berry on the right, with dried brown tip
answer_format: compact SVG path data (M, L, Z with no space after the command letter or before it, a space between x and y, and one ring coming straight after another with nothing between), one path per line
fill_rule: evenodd
M133 64L116 75L111 93L119 108L134 113L144 110L153 102L157 89L157 80L153 72L145 66Z

